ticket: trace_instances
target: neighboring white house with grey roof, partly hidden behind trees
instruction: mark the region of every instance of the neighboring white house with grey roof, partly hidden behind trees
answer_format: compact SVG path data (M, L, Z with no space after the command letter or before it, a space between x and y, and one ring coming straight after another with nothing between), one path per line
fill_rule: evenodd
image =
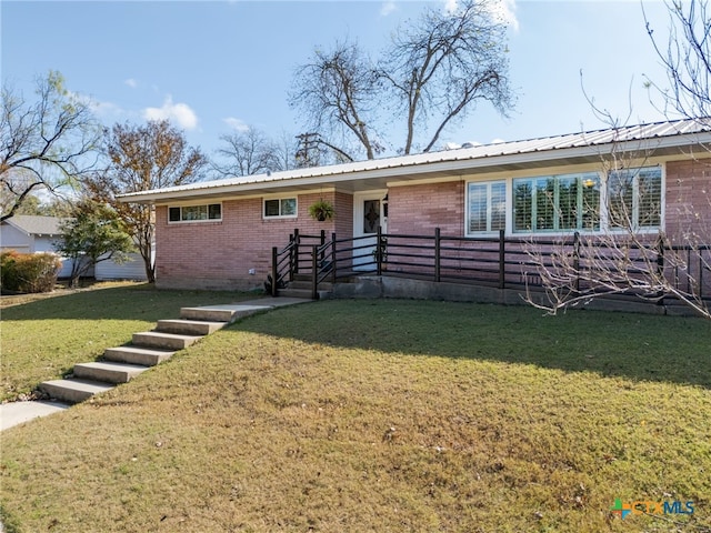
M20 253L54 252L54 241L60 235L60 225L64 219L58 217L38 217L18 214L3 220L0 224L0 251L16 250ZM97 280L137 280L146 281L143 260L138 253L129 254L126 263L112 260L97 263L89 276ZM69 278L71 262L62 259L59 278Z

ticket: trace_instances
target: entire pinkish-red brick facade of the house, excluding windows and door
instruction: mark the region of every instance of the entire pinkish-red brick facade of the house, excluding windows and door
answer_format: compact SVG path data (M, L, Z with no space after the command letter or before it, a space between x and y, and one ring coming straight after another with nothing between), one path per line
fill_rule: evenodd
M390 234L463 237L464 182L393 187L388 191ZM665 231L678 243L690 231L711 234L711 159L667 164ZM318 222L309 205L323 198L334 204L333 220ZM298 228L330 237L352 237L353 200L343 192L298 197L298 218L264 220L262 199L232 200L222 205L221 222L167 223L167 208L157 210L157 276L160 286L249 289L262 286L271 266L271 248L283 247ZM394 245L394 242L393 242ZM392 250L394 255L395 250ZM394 257L392 258L394 261ZM249 270L254 269L254 275Z

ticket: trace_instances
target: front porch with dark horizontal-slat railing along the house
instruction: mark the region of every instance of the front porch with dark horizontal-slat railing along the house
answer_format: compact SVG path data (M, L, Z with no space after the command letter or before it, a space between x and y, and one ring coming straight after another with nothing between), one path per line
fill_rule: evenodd
M669 245L659 238L618 247L579 233L531 240L503 231L487 238L451 237L435 229L431 235L378 231L339 239L297 229L284 248L272 249L266 286L274 296L299 284L300 295L312 299L330 294L515 304L544 303L553 280L588 309L687 314L679 299L655 291L649 279L669 280L680 295L708 306L710 266L711 247ZM619 273L600 283L600 269Z

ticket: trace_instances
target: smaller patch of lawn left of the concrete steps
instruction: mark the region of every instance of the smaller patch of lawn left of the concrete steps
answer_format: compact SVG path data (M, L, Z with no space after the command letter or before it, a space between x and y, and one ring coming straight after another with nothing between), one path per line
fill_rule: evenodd
M152 330L160 319L177 319L181 306L253 298L246 293L159 291L147 283L102 283L67 295L3 296L1 311L2 390L0 402L28 395L42 381L59 379L76 363L101 356L107 348ZM60 292L64 294L64 292Z

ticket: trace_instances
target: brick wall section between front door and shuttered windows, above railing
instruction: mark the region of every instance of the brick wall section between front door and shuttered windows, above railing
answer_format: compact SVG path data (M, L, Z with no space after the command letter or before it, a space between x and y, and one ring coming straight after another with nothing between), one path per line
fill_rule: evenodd
M393 187L388 191L388 233L464 234L464 182Z

